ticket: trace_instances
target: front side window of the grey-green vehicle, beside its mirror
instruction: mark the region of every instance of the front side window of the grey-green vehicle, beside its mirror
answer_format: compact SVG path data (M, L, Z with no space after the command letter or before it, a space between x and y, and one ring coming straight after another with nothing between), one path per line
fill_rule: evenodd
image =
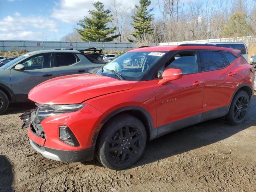
M22 61L20 64L25 66L25 70L49 68L51 66L51 54L38 54Z

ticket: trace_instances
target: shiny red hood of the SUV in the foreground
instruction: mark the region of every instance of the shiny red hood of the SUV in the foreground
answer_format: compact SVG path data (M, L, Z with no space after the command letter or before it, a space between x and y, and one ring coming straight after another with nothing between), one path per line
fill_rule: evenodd
M96 74L53 78L33 88L28 98L39 104L78 104L90 98L131 89L136 82Z

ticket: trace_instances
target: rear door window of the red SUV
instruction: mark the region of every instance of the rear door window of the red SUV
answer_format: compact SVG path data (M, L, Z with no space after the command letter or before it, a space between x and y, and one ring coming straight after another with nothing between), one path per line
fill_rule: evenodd
M225 66L223 57L218 51L202 51L205 70L216 70Z

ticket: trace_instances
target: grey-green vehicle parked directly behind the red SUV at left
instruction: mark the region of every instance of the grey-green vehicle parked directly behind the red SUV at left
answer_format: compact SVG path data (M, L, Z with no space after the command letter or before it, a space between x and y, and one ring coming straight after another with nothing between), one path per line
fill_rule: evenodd
M28 100L28 92L54 77L94 71L106 62L92 61L78 50L34 51L0 67L0 114L11 102Z

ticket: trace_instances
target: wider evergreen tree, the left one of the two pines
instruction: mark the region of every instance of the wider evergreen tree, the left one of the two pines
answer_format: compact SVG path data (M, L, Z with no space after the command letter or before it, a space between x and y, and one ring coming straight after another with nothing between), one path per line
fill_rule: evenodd
M110 14L109 9L104 9L104 5L101 2L96 2L93 4L96 10L89 10L91 18L84 17L83 20L79 20L78 25L82 29L76 29L78 33L82 36L83 41L103 41L110 42L118 35L112 35L116 30L116 27L108 27L108 22L112 22L112 14Z

